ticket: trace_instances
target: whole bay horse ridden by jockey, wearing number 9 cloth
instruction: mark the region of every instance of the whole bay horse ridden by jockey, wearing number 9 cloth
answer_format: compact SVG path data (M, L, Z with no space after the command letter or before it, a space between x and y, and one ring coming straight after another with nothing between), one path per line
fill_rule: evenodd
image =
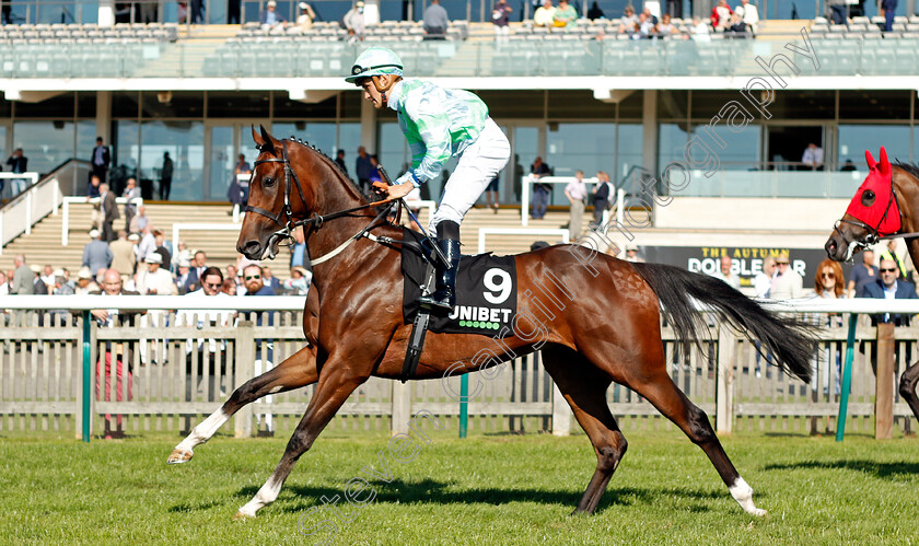
M277 140L264 127L260 132L253 127L253 139L260 152L236 247L249 259L272 257L292 229L304 226L314 263L304 324L311 346L234 392L176 446L170 462L190 460L197 444L259 396L317 385L275 472L236 518L254 516L277 499L293 465L354 388L370 376L399 377L411 330L403 317L398 245L360 236L369 231L375 237L400 240L403 229L375 225L375 211L322 152L294 140ZM615 381L648 399L701 448L746 512L764 515L708 416L671 380L661 317L680 339L698 344L696 329L705 327L705 320L696 302L701 302L759 340L783 371L807 383L815 342L805 327L767 312L721 280L673 266L631 264L578 245L556 245L514 260L517 307L525 309L528 318L520 324L515 318L521 328L501 340L503 349L495 351L496 341L488 336L431 332L411 379L478 371L542 350L546 371L596 455L596 468L574 513L594 512L626 453L628 444L606 403L606 391ZM549 274L558 282L537 289ZM545 294L543 302L525 298L537 290Z

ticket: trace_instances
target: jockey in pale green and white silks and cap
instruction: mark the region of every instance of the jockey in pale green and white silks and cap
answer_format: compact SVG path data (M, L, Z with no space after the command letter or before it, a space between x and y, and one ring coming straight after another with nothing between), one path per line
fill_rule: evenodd
M393 186L379 188L397 199L437 178L451 156L460 162L443 188L430 222L447 264L438 263L437 290L421 303L453 309L460 265L460 223L488 184L508 164L511 146L488 106L468 91L444 89L420 80L403 80L403 63L385 47L361 53L345 79L363 89L375 108L388 106L411 148L411 167ZM440 262L440 260L439 260Z

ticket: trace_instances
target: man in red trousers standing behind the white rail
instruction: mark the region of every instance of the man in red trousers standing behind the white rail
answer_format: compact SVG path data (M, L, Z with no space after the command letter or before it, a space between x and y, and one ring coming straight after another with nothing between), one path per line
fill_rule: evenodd
M137 295L137 292L130 292L123 289L121 283L121 275L116 269L109 269L105 272L105 277L102 283L103 291L94 291L94 295ZM141 314L141 311L128 311L128 310L118 310L118 309L98 309L91 311L93 317L96 320L96 323L101 328L114 328L116 326L128 326L132 327L136 326L133 324L133 318L138 314ZM129 346L128 346L129 347ZM115 358L115 399L121 402L124 398L124 376L125 376L125 362L127 362L127 375L128 375L128 384L127 384L127 397L130 400L133 397L133 377L132 377L132 370L131 370L131 358L130 355L127 353L125 344L118 341L106 341L105 342L105 352L98 356L98 361L96 362L96 402L103 399L100 395L100 391L103 387L103 377L104 377L104 387L105 387L105 402L109 402L112 399L112 359ZM105 362L105 375L103 375L103 361ZM116 429L112 430L112 416L105 415L105 439L112 440L113 438L123 438L124 432L121 431L121 416L115 416L115 426Z

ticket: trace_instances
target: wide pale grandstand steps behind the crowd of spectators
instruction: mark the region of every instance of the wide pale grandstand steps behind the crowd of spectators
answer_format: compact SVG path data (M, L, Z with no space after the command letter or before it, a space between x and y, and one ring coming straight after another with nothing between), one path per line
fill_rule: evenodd
M221 223L231 224L232 217L225 204L147 204L147 216L154 229L162 230L166 240L172 240L174 223ZM0 255L0 269L8 271L13 268L13 257L25 254L30 265L50 265L53 268L66 267L74 277L80 269L83 246L89 243L91 207L88 204L71 204L69 212L69 245L61 246L62 214L51 214L35 224L30 235L21 235L10 242ZM531 220L531 229L558 229L568 223L568 211L550 210L543 220ZM592 220L590 211L584 213L583 231ZM427 209L419 217L427 229ZM240 224L236 224L240 225ZM124 218L115 222L115 229L124 228ZM461 234L463 239L463 254L478 252L479 228L521 228L520 208L501 208L497 213L491 209L474 208L466 214ZM179 239L189 249L201 249L208 255L208 264L225 269L235 264L240 256L236 252L239 231L182 231ZM561 237L549 235L489 235L486 239L486 251L498 255L517 254L530 251L530 245L536 241L555 244ZM173 243L174 248L176 247ZM290 278L290 251L281 247L281 252L274 262L268 263L271 271L280 279Z

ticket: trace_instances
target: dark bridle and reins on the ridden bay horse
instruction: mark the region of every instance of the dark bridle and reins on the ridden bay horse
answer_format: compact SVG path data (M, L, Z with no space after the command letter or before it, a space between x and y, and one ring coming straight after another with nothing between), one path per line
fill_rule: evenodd
M319 229L328 220L335 220L336 218L342 218L342 217L346 217L346 216L350 214L351 212L356 212L358 210L364 210L364 209L369 209L369 208L373 208L373 207L379 207L381 205L387 205L387 204L394 202L392 199L384 199L384 200L381 200L381 201L374 201L374 202L370 202L370 204L367 204L367 205L361 205L360 207L353 207L353 208L346 209L346 210L339 210L339 211L333 212L330 214L321 216L321 214L313 213L313 216L311 218L307 218L305 220L294 220L293 209L291 207L291 201L290 201L290 188L291 188L291 186L294 186L296 188L296 193L298 193L298 195L300 195L300 202L303 204L304 208L307 207L306 197L303 195L303 188L300 186L300 178L298 178L296 172L293 170L293 167L290 164L290 156L288 155L288 141L282 140L281 144L282 144L282 155L281 155L281 158L269 158L269 159L264 159L264 160L257 160L255 163L253 163L253 169L252 169L253 174L252 174L252 176L253 177L255 176L255 170L258 169L258 165L261 165L264 163L283 163L283 167L284 167L284 204L283 204L283 207L281 207L281 210L277 213L271 212L270 210L265 210L260 207L254 207L252 205L246 205L246 206L243 207L243 211L255 212L256 214L261 214L265 218L268 218L269 220L271 220L272 222L275 222L275 223L277 223L278 225L281 226L280 230L271 233L271 235L268 236L267 248L268 248L268 252L271 253L272 257L274 257L274 253L272 253L271 248L275 247L276 243L280 244L279 240L287 241L288 244L293 244L295 242L295 240L293 237L293 231L296 230L296 228L311 225L315 229ZM264 144L263 144L263 147L259 147L259 150L264 151ZM252 178L249 178L249 179L252 179ZM293 184L291 184L291 182L293 182ZM358 232L352 237L348 239L341 246L339 246L338 248L336 248L335 251L333 251L331 253L327 254L326 256L324 256L322 258L313 259L312 264L313 265L321 264L322 262L325 262L326 259L329 259L329 258L334 257L335 255L337 255L338 253L340 253L341 251L344 251L345 247L348 244L350 244L351 242L360 239L361 236L370 236L368 231L371 228L373 228L376 224L376 222L380 221L381 218L385 217L385 214L387 212L388 212L388 207L386 209L384 209L383 211L381 211L376 216L376 218L373 219L373 221L371 221L370 224L368 224L363 230ZM281 219L284 219L284 221L281 222Z

